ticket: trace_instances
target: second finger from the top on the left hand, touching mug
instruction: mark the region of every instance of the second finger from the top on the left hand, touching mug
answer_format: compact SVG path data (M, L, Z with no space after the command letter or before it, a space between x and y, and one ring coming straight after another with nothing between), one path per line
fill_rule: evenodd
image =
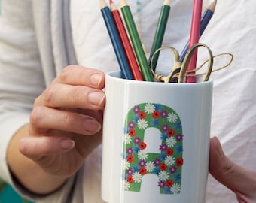
M105 105L105 93L88 86L52 84L35 100L36 105L50 108L102 109Z

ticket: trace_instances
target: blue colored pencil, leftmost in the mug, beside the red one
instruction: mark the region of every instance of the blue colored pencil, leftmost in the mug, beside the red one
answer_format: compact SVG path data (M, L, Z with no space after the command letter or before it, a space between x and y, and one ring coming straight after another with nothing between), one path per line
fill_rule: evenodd
M102 17L105 21L105 26L108 29L108 35L111 39L112 46L114 47L114 53L117 56L117 61L122 71L123 77L128 80L133 80L133 74L130 71L130 66L126 59L126 54L124 53L123 44L121 43L108 5L106 4L105 0L99 0L99 2Z

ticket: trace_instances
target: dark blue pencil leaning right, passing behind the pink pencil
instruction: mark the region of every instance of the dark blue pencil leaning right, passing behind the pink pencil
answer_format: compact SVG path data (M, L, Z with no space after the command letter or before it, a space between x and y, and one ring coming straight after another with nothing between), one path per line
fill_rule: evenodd
M203 35L203 32L206 29L206 26L208 25L208 23L210 22L212 15L215 12L215 7L217 4L217 0L215 0L214 2L212 2L207 8L206 11L203 13L203 17L201 18L201 25L200 25L200 36ZM185 45L184 49L181 52L181 56L180 56L180 62L183 62L184 57L186 56L187 50L189 47L189 40L187 41L187 44Z

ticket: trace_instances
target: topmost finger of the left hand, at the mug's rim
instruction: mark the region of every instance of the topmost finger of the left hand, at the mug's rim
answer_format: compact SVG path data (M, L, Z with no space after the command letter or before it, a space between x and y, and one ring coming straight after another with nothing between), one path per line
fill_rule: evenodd
M102 89L105 84L105 74L102 71L85 68L80 65L69 65L63 69L59 77L53 83L90 86Z

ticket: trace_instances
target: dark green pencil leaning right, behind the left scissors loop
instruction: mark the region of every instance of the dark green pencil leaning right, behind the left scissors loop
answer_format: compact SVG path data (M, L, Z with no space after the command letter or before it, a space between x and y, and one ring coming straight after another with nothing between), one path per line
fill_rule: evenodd
M151 59L152 59L152 56L154 55L155 51L162 46L163 36L164 36L164 32L166 30L166 24L168 21L170 9L171 9L171 0L164 0L163 6L160 11L160 17L159 17L158 23L157 23L157 30L154 35L154 41L152 44L151 53L150 53L149 60L148 60L148 65L151 64ZM157 67L158 57L159 57L159 52L157 54L155 54L154 60L152 62L151 68L154 71Z

